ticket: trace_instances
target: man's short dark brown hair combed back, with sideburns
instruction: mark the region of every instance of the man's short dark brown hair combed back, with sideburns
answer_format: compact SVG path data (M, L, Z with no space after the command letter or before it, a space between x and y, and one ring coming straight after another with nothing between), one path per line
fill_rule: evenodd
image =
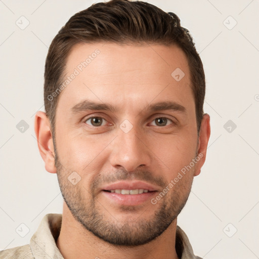
M52 95L62 83L71 48L80 42L116 44L154 43L180 47L188 60L195 99L198 132L203 117L205 75L189 31L174 13L165 13L149 3L112 0L97 3L73 15L53 39L45 64L44 102L52 133L59 95ZM52 96L50 101L50 96Z

